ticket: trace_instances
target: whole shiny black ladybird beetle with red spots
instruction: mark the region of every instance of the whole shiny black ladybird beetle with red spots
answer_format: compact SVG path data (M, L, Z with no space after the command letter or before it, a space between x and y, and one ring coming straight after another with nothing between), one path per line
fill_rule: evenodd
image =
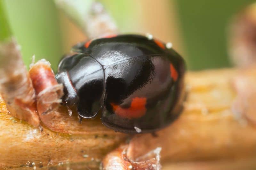
M61 60L56 78L63 102L84 118L125 133L154 132L174 121L184 100L185 64L161 41L111 35L77 44Z

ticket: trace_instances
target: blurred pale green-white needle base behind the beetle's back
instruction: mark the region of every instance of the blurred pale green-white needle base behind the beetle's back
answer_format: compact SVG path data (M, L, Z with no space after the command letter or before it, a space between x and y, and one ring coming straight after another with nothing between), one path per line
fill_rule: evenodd
M88 38L116 34L118 29L103 5L93 0L55 0L56 6L82 29Z

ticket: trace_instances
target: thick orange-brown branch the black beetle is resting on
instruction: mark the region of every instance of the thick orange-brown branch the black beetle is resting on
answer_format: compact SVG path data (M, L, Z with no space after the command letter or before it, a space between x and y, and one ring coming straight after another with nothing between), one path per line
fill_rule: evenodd
M187 73L188 98L179 119L156 132L157 137L135 135L128 144L127 157L136 160L161 147L163 168L164 163L170 167L171 163L184 161L255 159L255 84L256 67ZM1 168L98 168L104 155L129 138L104 127L99 118L83 121L80 127L87 133L74 135L46 127L41 132L13 118L3 100L0 113Z

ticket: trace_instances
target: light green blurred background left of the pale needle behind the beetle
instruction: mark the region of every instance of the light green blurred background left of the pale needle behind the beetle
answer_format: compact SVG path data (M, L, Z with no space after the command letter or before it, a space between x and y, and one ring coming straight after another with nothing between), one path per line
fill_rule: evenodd
M2 1L2 0L0 0ZM6 13L14 36L21 45L26 65L45 58L56 69L60 56L61 37L57 8L52 0L5 0Z

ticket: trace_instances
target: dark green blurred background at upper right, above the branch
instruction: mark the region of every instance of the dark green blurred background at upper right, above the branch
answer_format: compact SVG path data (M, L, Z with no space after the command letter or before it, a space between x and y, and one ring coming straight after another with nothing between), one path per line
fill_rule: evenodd
M228 23L254 0L176 0L189 69L230 66Z

